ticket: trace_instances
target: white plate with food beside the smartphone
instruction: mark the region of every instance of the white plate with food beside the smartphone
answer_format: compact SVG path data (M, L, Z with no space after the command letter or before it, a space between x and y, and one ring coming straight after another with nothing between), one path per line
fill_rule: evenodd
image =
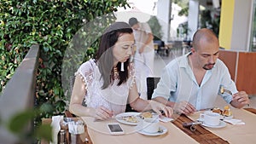
M122 124L129 124L129 125L137 125L139 124L139 122L142 120L139 117L137 118L137 123L133 123L133 122L128 122L124 119L122 119L122 117L127 117L127 116L138 116L140 114L140 112L123 112L123 113L119 113L118 115L115 116L115 119Z

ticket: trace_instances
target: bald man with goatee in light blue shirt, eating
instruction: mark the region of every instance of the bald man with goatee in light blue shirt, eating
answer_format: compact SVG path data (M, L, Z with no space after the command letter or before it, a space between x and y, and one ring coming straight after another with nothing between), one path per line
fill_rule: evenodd
M172 60L163 69L153 100L183 114L215 107L218 95L236 108L249 104L247 93L236 89L227 66L218 59L218 49L218 37L211 30L195 32L190 53ZM220 93L220 87L233 95Z

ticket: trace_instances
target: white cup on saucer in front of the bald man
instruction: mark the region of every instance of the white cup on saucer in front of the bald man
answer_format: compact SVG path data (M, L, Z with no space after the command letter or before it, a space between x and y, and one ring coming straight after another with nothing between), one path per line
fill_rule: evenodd
M220 114L216 112L200 113L200 118L203 119L203 123L207 125L216 126L220 123Z

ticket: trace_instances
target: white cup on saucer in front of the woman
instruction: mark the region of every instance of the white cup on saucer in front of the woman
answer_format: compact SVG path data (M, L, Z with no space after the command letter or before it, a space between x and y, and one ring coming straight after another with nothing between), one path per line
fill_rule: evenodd
M156 133L159 131L159 119L158 118L145 118L143 120L143 131L147 133Z

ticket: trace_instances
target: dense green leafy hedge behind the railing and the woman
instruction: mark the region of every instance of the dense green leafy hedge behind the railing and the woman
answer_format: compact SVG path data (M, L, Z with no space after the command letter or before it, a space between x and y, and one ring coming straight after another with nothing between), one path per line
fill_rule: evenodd
M100 22L108 26L115 19L112 12L116 11L117 7L126 6L128 5L125 0L1 1L0 90L4 89L4 85L12 77L32 44L38 43L40 58L35 104L43 110L41 117L49 118L60 114L67 105L67 97L61 84L61 66L67 47L76 50L73 45L69 45L74 34L85 23L104 14L108 16ZM86 32L83 33L84 35ZM94 55L97 43L92 42L91 45L84 43L80 47L89 50L81 53L83 59L73 58L77 63ZM73 65L73 61L66 62L67 67Z

